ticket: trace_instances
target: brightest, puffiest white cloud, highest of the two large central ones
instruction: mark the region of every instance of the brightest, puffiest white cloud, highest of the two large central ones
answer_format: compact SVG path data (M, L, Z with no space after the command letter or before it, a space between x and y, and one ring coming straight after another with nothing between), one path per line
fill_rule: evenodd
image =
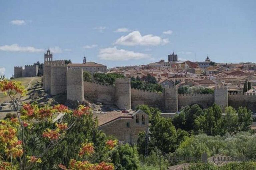
M162 39L158 36L153 36L152 34L141 36L139 31L133 31L127 36L122 36L114 44L119 45L160 45L168 43L168 39Z

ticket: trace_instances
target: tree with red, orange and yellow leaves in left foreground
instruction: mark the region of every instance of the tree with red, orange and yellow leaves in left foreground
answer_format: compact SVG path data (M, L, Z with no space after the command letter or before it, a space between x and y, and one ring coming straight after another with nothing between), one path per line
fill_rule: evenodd
M17 118L8 118L0 121L0 170L29 170L33 169L35 164L42 163L41 158L45 156L51 149L57 146L65 135L73 128L76 121L83 115L90 114L90 108L79 106L77 110L71 111L64 105L43 106L37 104L23 103L17 97L26 95L25 88L17 81L0 80L0 91L8 95L12 101L12 105L16 111ZM21 106L21 108L20 108ZM33 130L33 126L40 121L53 123L54 118L58 114L70 114L74 117L71 124L55 123L54 128L45 128L41 134L42 138L48 140L47 147L38 155L27 155L26 134L25 131ZM111 150L117 145L116 141L107 141L106 148ZM3 153L3 155L2 155ZM86 155L94 154L94 144L85 141L80 148L79 156L86 158ZM91 170L113 170L111 163L100 162L90 163L87 160L77 161L72 159L70 167L59 165L60 169L91 169Z

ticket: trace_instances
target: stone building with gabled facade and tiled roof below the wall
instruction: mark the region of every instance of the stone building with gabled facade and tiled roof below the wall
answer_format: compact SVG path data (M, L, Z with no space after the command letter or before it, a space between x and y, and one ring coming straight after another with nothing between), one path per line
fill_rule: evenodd
M141 110L135 113L99 113L94 117L98 119L98 129L124 143L136 144L139 132L148 132L148 115Z

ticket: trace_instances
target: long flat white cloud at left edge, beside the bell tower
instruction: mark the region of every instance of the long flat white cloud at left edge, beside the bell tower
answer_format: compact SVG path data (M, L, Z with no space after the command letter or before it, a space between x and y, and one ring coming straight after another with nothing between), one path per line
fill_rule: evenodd
M43 52L42 48L35 48L32 46L19 46L18 44L12 45L2 45L0 46L2 51L11 51L11 52Z

